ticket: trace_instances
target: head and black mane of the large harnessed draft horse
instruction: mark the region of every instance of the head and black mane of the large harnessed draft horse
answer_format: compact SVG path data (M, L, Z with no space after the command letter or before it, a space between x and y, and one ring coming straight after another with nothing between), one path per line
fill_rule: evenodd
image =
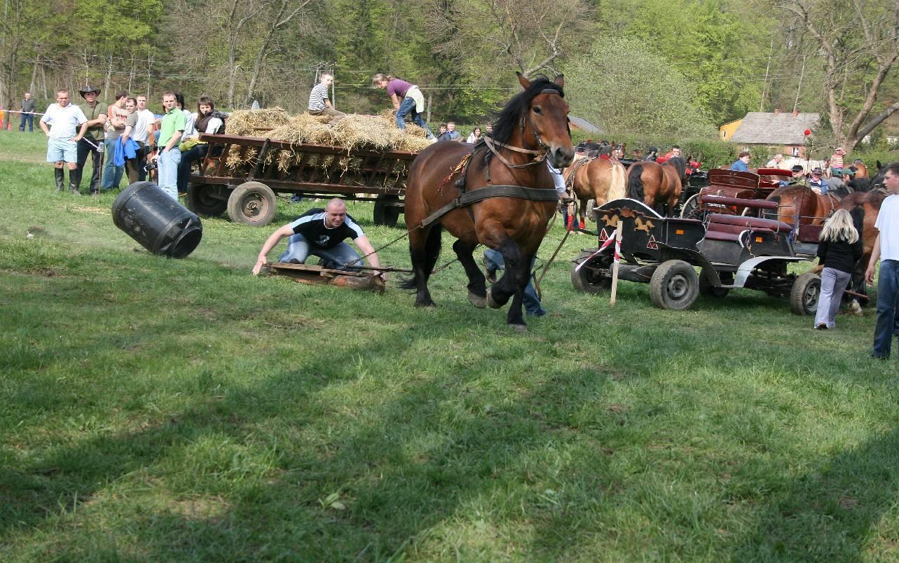
M568 128L568 103L565 101L563 75L550 82L545 77L529 81L517 73L524 92L512 98L497 120L495 138L512 139L515 128L521 132L525 148L547 151L547 160L556 168L565 168L574 158L571 131Z

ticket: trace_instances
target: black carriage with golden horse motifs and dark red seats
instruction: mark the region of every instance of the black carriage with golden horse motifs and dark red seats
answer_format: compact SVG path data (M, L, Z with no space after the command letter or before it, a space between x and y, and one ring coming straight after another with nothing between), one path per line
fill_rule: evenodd
M777 207L764 200L703 199L717 207ZM601 243L615 236L621 222L619 277L648 283L653 303L663 309L687 309L699 294L724 296L735 287L788 295L797 314L817 308L821 278L788 271L789 264L812 258L797 253L789 224L728 213L709 213L704 220L663 217L635 199L610 201L594 211ZM613 245L582 251L574 259L572 284L588 293L608 291L612 262Z

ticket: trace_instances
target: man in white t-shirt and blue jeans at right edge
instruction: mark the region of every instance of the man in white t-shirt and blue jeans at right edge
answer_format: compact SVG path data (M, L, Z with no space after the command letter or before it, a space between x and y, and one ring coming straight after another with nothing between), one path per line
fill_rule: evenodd
M899 163L888 164L884 186L890 195L880 205L877 214L877 239L868 260L865 280L874 283L874 267L880 260L880 277L877 281L877 325L874 329L874 350L871 357L886 359L890 356L895 330L896 304L899 303Z

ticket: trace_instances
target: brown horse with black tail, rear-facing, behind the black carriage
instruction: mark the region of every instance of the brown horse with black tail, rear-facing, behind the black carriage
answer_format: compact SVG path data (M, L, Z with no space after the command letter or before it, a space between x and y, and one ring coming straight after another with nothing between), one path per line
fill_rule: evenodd
M687 163L672 156L665 163L640 161L628 169L628 198L644 202L661 216L668 216L681 198L687 181Z

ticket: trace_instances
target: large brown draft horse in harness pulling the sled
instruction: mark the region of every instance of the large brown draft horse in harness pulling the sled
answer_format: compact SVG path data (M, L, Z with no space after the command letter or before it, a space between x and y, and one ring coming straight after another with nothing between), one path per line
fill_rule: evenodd
M402 286L415 289L415 306L432 307L428 278L441 251L441 231L458 240L453 243L468 277L468 300L476 307L502 307L512 298L506 321L515 330L527 327L521 313L521 297L530 279L531 261L556 212L556 201L521 197L486 198L467 207L456 207L423 226L426 218L451 204L462 191L473 193L492 186L555 190L548 160L556 168L574 158L568 130L568 104L562 90L565 78L555 82L539 77L533 82L521 74L524 92L509 101L494 124L493 137L472 146L436 143L415 158L405 190L405 224L413 276ZM536 156L535 156L536 155ZM465 163L467 161L467 170ZM464 176L463 176L464 174ZM464 178L464 189L457 179ZM555 198L553 194L544 194ZM472 252L478 244L503 254L503 277L487 291L484 273Z

